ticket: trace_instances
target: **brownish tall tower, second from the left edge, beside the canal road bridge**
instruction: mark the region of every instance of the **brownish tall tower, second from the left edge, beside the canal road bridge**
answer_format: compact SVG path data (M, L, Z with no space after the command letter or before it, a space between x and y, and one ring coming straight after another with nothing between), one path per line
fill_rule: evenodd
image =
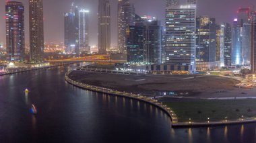
M44 54L44 16L42 0L30 0L30 61L41 62Z

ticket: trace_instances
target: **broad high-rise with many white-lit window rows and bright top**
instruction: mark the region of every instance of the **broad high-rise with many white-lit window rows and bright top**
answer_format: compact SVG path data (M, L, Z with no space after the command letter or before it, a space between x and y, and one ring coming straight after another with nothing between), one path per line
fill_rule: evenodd
M166 64L195 71L196 5L166 7Z

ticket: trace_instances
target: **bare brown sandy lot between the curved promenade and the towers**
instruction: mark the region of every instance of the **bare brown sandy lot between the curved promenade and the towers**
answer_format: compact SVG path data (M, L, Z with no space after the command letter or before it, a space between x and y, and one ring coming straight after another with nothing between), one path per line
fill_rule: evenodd
M69 75L75 81L129 93L154 95L159 91L189 93L186 96L205 96L228 93L237 89L239 81L218 76L161 76L161 75L112 75L75 70Z

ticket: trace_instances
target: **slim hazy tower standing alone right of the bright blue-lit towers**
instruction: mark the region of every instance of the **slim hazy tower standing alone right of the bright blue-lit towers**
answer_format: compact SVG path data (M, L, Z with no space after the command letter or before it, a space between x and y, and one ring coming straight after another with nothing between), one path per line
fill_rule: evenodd
M110 3L109 0L98 1L98 51L106 54L110 50Z

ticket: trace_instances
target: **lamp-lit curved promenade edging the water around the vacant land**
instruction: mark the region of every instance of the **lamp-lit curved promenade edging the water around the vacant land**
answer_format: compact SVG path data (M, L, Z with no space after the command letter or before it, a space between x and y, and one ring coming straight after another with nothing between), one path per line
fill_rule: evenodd
M193 128L193 127L203 127L203 126L227 126L227 125L232 125L232 124L248 124L248 123L254 123L256 122L256 117L250 117L250 118L241 118L238 120L223 120L219 122L214 122L210 120L206 120L205 122L179 122L177 115L174 113L174 111L170 108L168 108L166 105L158 102L155 99L152 99L151 97L144 97L144 96L139 96L135 95L132 93L126 93L126 92L121 92L121 91L115 91L113 89L108 89L104 87L98 87L94 85L88 85L85 83L80 83L77 81L73 81L72 79L69 78L69 74L73 70L70 70L68 73L65 75L65 80L70 83L71 85L75 85L76 87L80 87L82 89L87 89L90 91L96 91L99 93L104 93L108 95L116 95L116 96L121 96L121 97L127 97L131 99L136 99L139 101L143 101L146 103L150 103L152 105L155 105L156 107L159 107L162 109L165 113L168 114L168 116L171 118L172 121L172 127L173 128Z

